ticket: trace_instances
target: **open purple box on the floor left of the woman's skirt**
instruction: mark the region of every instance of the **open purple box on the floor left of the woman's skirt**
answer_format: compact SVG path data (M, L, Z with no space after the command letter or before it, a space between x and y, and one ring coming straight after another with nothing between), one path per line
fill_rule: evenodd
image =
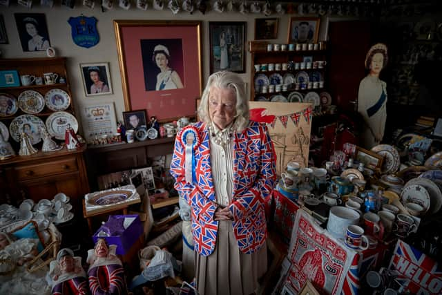
M109 216L111 218L111 216ZM140 216L135 215L114 215L113 218L124 218L124 222L130 222L130 224L125 227L123 233L120 236L105 236L100 237L97 236L99 231L102 230L100 227L95 234L93 235L94 243L97 242L99 238L104 238L109 245L117 245L117 254L124 255L126 252L131 249L131 247L137 242L140 236L143 234L143 227L140 220ZM106 223L104 223L103 227L106 227Z

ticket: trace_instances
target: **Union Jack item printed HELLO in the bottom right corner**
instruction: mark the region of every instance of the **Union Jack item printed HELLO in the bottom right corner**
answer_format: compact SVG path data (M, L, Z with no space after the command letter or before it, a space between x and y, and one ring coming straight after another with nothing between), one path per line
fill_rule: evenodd
M396 280L404 292L442 294L441 265L402 240L398 240L388 268L399 273Z

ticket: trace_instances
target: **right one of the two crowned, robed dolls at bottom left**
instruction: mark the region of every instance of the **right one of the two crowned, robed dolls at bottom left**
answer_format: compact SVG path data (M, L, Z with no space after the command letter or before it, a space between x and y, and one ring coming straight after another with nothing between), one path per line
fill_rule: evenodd
M94 249L88 250L89 288L93 295L127 294L122 261L115 255L116 245L108 246L99 238Z

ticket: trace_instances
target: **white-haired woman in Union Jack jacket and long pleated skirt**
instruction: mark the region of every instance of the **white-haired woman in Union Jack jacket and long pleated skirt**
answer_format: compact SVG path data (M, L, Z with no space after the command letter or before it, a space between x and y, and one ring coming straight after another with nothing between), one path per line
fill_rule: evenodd
M267 126L249 121L234 73L209 77L198 112L202 122L177 134L171 163L191 206L198 292L252 294L267 269L263 201L276 178L273 144Z

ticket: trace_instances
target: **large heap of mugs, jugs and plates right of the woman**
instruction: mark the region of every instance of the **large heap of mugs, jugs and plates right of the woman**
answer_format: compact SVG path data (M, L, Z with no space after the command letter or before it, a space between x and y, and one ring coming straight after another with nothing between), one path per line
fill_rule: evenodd
M353 164L352 158L340 164L332 156L325 168L289 162L277 189L312 212L328 204L329 215L318 219L328 217L327 230L352 249L406 238L417 231L421 218L442 207L442 152L428 158L416 175L409 173L415 166L398 171L401 163L394 146L380 144L372 151L384 158L380 176L363 163Z

